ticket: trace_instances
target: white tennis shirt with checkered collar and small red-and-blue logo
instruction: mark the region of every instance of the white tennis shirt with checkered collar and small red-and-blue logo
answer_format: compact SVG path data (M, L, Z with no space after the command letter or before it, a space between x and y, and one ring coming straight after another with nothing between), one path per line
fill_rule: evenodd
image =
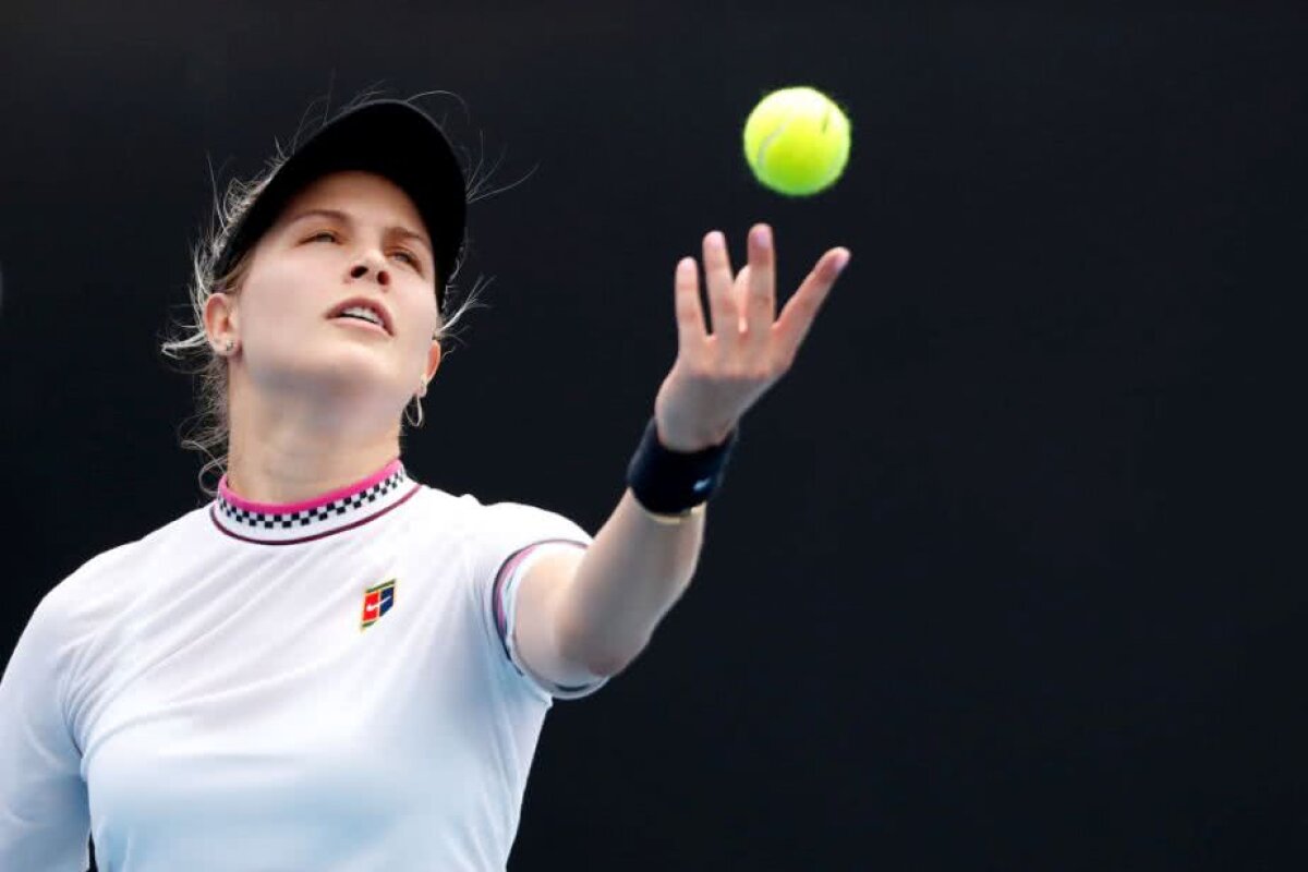
M504 869L553 697L515 580L589 536L399 461L225 489L42 600L0 681L0 871Z

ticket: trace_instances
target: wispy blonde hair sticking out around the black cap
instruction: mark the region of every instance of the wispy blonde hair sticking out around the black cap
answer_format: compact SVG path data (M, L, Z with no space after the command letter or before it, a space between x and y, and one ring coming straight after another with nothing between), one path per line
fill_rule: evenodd
M375 95L377 92L360 94L343 106L339 112L349 111L352 107ZM426 95L429 94L419 94L409 98L408 102ZM328 120L324 109L319 127L324 126ZM224 275L216 275L215 271L241 218L250 210L254 201L259 199L268 182L277 174L281 165L286 162L289 154L294 152L294 143L303 133L303 122L301 122L301 131L292 140L290 152L284 152L279 144L267 167L252 179L232 179L226 190L221 193L218 193L217 182L215 180L213 214L209 227L191 252L191 280L187 286L187 295L190 298L188 315L183 322L171 326L169 337L161 345L162 353L178 361L183 371L195 379L196 411L183 425L182 447L196 451L201 456L203 465L200 467L198 478L201 490L209 495L215 494L218 478L226 472L230 421L228 416L228 358L217 354L209 344L208 332L204 328L204 306L213 294L235 295L241 292L250 273L250 265L254 261L255 244L251 244L242 252ZM487 182L484 174L494 169L492 166L487 170L481 161L472 167L472 180L467 184L468 203L480 199L480 196L498 192L477 193L477 188L481 188ZM500 188L500 191L508 190L508 187L513 186L506 186L505 188ZM450 310L450 301L455 295L454 277L459 272L462 258L455 264L437 265L441 275L449 271L449 275L445 277L443 293L437 293L437 301L443 301L442 309ZM441 275L438 275L437 281L441 281ZM433 339L442 344L442 349L447 340L455 339L453 329L459 322L468 311L479 306L477 299L488 285L489 280L477 278L473 281L471 290L454 306L454 310L449 315L446 315L446 311L437 312L437 335ZM213 484L209 484L211 481Z

